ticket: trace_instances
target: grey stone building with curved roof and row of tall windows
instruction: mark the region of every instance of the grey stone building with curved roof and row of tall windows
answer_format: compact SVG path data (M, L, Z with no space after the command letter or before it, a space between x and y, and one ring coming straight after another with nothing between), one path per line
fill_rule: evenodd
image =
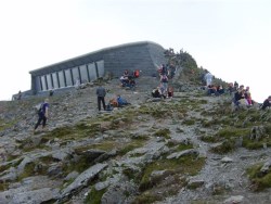
M76 80L88 82L106 74L119 77L125 69L140 69L142 75L151 76L166 62L164 51L162 46L151 41L101 49L31 71L31 91L39 93L73 87Z

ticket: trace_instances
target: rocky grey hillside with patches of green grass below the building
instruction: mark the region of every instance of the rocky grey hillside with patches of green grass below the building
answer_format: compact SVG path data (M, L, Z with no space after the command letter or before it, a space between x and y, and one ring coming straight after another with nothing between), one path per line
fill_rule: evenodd
M230 95L206 97L175 81L153 100L155 77L136 90L104 82L50 98L48 129L33 132L44 97L0 102L0 203L271 203L270 110L233 112Z

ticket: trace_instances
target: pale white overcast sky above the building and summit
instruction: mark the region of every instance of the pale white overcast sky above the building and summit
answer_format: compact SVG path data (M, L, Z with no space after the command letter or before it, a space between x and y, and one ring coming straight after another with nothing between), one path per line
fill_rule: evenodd
M217 78L271 95L270 0L1 0L0 101L29 71L103 48L153 41L189 52Z

